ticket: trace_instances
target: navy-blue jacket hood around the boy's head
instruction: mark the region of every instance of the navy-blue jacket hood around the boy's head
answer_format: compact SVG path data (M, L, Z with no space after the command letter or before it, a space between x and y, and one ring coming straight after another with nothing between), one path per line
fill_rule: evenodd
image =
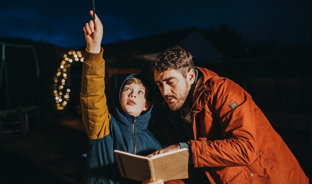
M116 95L116 98L115 98L115 101L116 101L115 111L116 112L114 116L117 121L119 121L121 124L124 124L125 126L128 126L129 123L131 123L134 120L133 115L130 115L124 112L124 110L121 108L121 103L120 103L120 95L122 91L122 86L129 78L134 78L134 77L142 80L149 87L149 94L147 96L147 101L150 102L149 109L147 111L143 111L139 116L136 117L136 128L140 130L144 130L147 128L149 124L149 119L151 117L151 110L154 106L155 89L151 81L147 77L141 74L131 74L125 78L125 80L121 83L121 85L119 85L119 88L118 88L119 90L116 91L116 93L119 95Z

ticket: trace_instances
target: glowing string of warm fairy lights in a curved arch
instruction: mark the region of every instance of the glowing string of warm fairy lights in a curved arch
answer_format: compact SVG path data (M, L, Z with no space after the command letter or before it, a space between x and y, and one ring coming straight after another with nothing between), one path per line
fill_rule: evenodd
M56 108L62 110L68 104L69 100L69 85L66 83L68 77L69 67L74 61L83 62L83 57L80 51L69 51L68 55L64 54L61 66L57 69L56 76L54 76L54 96L56 102Z

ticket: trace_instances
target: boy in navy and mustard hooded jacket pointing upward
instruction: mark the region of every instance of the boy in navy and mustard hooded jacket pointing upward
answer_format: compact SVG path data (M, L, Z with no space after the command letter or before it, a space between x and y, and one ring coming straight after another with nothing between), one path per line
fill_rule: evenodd
M87 47L80 100L82 119L90 138L83 183L140 183L121 177L114 150L147 155L161 148L146 128L154 103L153 87L144 76L128 76L116 97L118 106L114 116L109 114L104 93L105 61L100 47L103 26L95 15L95 21L86 23L83 30Z

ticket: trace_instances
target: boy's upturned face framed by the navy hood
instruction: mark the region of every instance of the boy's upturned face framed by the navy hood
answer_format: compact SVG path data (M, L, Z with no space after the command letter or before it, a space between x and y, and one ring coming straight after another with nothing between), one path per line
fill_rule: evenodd
M139 116L142 111L149 108L149 101L146 101L147 95L142 86L135 83L125 85L120 95L120 104L124 112Z

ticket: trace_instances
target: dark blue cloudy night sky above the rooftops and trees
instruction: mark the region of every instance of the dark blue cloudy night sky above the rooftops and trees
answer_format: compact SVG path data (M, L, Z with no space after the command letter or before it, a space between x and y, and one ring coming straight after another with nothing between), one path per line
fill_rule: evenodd
M251 42L307 44L312 41L311 5L311 0L95 0L95 12L104 25L102 43L228 24ZM91 9L92 0L2 1L0 37L80 48Z

